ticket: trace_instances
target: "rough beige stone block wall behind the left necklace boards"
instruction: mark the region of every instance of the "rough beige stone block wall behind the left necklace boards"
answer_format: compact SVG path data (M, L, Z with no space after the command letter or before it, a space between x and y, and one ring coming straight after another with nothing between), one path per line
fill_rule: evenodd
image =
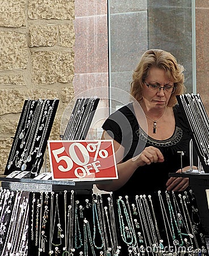
M0 5L0 174L24 101L58 98L51 139L59 139L74 97L74 0L2 0Z

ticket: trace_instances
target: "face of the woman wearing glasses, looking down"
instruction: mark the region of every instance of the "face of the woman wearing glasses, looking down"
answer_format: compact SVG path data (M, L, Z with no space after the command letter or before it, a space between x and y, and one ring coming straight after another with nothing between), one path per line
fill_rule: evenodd
M144 81L142 95L145 105L149 108L165 108L172 95L172 90L167 91L162 88L154 90L151 86L148 87L147 85L173 86L173 82L169 81L164 69L154 67L149 69L149 75Z

